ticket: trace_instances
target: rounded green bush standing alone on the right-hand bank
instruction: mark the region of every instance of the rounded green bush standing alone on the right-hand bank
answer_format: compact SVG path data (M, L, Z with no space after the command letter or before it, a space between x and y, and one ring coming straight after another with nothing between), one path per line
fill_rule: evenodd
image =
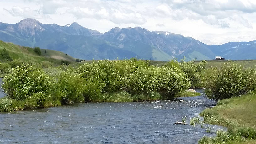
M216 101L237 97L256 88L256 71L244 69L234 62L224 63L220 69L212 68L205 77L205 94Z

